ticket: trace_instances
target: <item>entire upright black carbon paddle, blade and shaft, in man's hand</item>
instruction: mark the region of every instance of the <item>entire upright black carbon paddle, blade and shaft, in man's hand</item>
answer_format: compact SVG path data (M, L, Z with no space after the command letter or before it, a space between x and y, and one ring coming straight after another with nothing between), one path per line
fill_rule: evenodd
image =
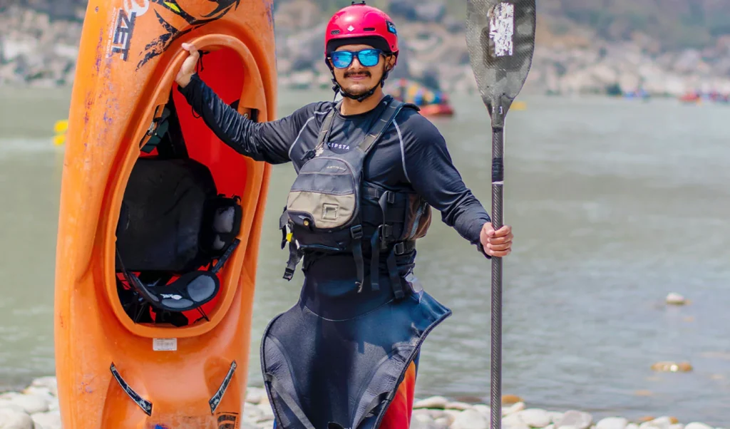
M492 125L492 225L502 228L504 117L535 49L535 0L468 0L466 46ZM492 258L491 429L502 425L502 258Z

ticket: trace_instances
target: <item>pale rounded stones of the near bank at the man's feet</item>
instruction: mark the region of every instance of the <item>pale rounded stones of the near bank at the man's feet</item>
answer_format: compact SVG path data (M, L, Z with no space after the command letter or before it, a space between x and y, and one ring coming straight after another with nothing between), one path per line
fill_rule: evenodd
M35 379L22 392L0 394L1 429L61 429L55 377ZM504 429L721 429L701 422L678 422L670 416L645 417L631 422L623 417L595 419L584 411L528 408L516 396L504 396ZM410 429L488 429L489 406L449 401L442 396L414 404ZM270 429L274 414L263 389L249 387L241 429ZM405 429L405 428L404 428Z

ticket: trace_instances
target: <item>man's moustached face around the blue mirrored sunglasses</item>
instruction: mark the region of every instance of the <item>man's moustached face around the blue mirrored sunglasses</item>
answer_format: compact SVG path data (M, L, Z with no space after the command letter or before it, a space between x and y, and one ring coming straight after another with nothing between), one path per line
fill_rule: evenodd
M336 52L350 51L357 53L361 50L373 49L370 45L345 45L337 48ZM380 78L385 73L385 67L388 70L393 69L393 63L395 63L394 55L388 55L386 59L382 54L377 55L378 61L374 66L366 67L363 66L358 55L353 55L353 61L350 66L345 69L338 69L334 66L334 61L330 59L330 64L334 69L334 78L347 93L353 94L353 96L360 96L368 92L371 88L380 82Z

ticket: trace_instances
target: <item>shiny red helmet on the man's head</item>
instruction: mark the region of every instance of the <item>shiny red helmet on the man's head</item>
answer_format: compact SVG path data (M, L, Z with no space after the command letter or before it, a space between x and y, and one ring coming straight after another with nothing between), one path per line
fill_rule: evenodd
M358 39L358 40L353 40ZM377 7L367 6L365 1L347 6L335 13L327 24L324 39L327 54L342 45L363 43L398 55L398 33L393 20Z

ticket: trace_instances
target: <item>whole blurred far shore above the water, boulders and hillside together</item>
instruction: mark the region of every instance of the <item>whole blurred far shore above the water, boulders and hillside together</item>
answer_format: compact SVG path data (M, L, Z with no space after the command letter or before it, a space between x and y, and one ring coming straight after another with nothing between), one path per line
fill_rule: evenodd
M4 0L0 84L68 85L85 0ZM127 0L142 3L147 0ZM180 0L183 1L183 0ZM274 0L281 83L329 85L321 61L331 12L349 1ZM728 0L538 0L537 50L526 90L656 94L730 91ZM0 4L4 4L0 1ZM464 1L372 0L403 41L396 76L435 77L442 89L472 90Z

